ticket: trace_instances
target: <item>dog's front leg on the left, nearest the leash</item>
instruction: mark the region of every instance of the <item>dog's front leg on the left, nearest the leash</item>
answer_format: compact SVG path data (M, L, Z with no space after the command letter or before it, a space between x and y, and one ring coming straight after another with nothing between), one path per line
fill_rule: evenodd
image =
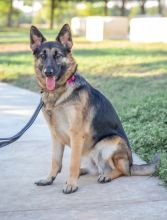
M39 180L35 182L38 186L51 185L55 180L57 174L61 171L62 168L62 158L64 152L64 145L57 141L54 137L52 139L52 164L49 175L46 179Z

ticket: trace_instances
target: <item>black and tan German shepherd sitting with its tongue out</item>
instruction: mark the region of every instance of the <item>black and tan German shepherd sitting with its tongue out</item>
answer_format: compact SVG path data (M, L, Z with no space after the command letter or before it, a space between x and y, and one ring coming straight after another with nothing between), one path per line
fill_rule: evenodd
M132 163L130 144L116 111L78 74L72 45L68 24L54 41L46 41L35 26L31 27L30 47L53 143L50 173L36 184L53 183L62 168L65 145L71 147L69 177L63 188L66 194L75 192L79 176L88 172L97 174L99 183L123 175L151 175L159 158L144 165Z

